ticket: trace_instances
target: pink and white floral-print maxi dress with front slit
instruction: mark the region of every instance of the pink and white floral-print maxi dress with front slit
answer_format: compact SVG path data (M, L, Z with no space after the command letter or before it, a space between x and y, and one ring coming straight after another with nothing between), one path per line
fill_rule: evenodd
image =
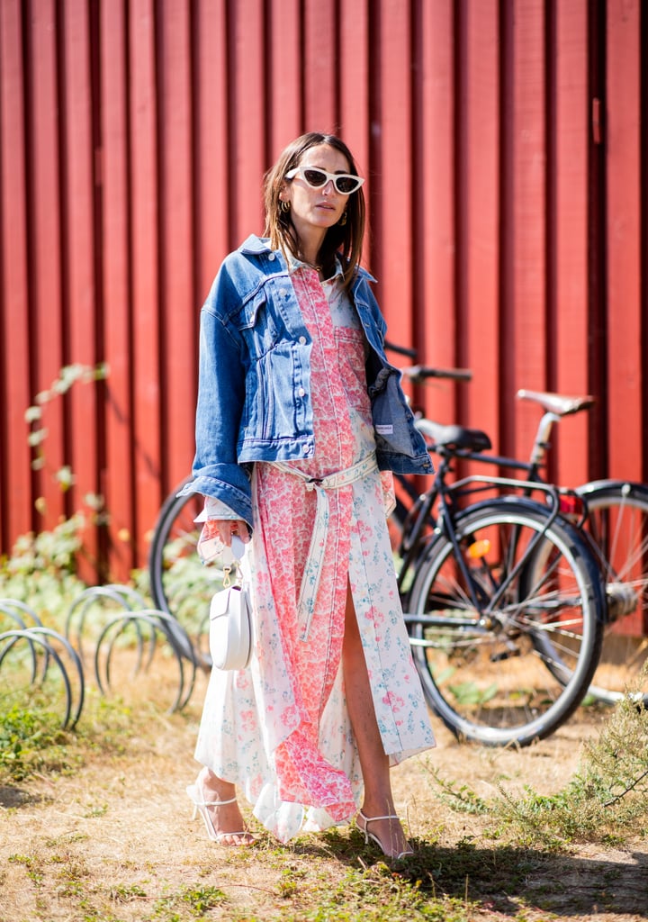
M283 842L348 822L360 802L341 668L348 585L384 751L394 764L434 745L386 525L391 474L375 466L364 334L338 276L320 282L297 263L292 283L312 337L315 455L254 468L254 655L245 670L212 670L195 750ZM309 481L358 464L337 489Z

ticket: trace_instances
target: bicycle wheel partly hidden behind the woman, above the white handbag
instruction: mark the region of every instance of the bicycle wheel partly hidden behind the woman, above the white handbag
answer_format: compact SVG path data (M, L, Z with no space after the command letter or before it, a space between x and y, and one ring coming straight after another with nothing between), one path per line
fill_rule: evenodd
M209 602L220 588L222 572L200 561L196 550L200 526L194 518L202 510L204 499L197 493L176 496L183 483L159 511L148 572L156 608L168 611L190 636L199 638L206 632Z

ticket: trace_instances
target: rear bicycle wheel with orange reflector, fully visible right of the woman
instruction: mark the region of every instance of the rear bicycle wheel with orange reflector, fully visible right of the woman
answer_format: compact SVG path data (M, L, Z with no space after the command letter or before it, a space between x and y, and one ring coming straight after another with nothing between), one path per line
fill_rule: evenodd
M428 703L460 739L525 746L560 727L595 670L605 597L576 529L536 503L480 502L424 550L409 595Z

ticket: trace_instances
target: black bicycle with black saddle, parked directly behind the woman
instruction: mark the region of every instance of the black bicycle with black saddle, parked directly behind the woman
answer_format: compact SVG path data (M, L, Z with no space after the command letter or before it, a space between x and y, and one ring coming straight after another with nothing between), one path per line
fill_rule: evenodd
M489 447L485 438L488 444L482 440L473 447ZM458 736L526 745L560 726L589 686L605 609L598 570L577 528L561 518L556 488L545 488L550 499L544 505L527 497L496 497L462 510L447 474L442 463L425 494L428 506L408 526L409 548L399 572L415 663L429 703ZM488 481L519 487L518 481ZM430 535L437 500L441 509ZM156 604L173 610L183 623L190 609L194 614L206 609L196 600L204 593L207 602L219 576L214 570L198 585L189 570L196 558L195 502L170 497L150 555ZM183 519L189 510L191 522ZM450 561L461 595L430 594L434 581L426 582L426 574L442 573ZM414 612L407 610L409 599ZM421 655L440 644L462 651L460 687L434 676L429 654ZM513 658L515 669L504 669L501 664Z

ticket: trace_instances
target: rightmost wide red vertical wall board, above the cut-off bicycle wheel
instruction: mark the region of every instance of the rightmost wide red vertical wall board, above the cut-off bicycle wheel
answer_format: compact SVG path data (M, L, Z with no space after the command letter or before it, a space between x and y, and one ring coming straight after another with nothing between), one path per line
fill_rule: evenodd
M637 469L643 440L640 6L639 0L607 4L608 451L614 475L629 478Z

